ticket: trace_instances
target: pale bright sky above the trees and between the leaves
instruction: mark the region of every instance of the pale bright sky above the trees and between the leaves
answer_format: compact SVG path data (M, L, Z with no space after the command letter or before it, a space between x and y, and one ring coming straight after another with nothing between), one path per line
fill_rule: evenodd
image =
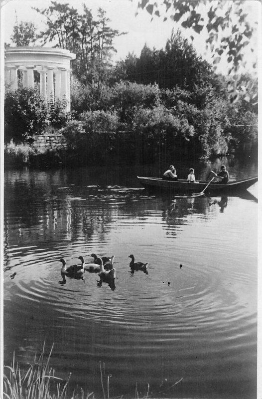
M138 15L135 16L137 11L138 0L57 0L58 2L68 2L70 6L82 10L82 4L85 3L88 8L93 12L93 16L96 16L97 9L103 8L107 17L111 19L110 26L114 29L118 29L120 32L127 32L126 35L117 37L114 40L114 45L117 49L117 53L114 55L115 60L125 59L129 52L134 52L135 55L139 56L141 49L144 44L149 48L161 49L164 48L167 39L171 36L172 29L181 28L179 23L174 23L170 18L167 18L163 22L163 18L154 16L151 20L151 15L145 10L139 10ZM216 3L216 0L212 0ZM39 30L44 28L42 20L44 17L38 12L34 11L32 7L46 8L50 5L49 0L9 0L4 6L4 32L5 41L10 42L10 35L12 28L15 24L16 16L18 22L28 21L34 22ZM259 21L262 16L262 6L259 0L247 0L245 10L248 14L248 19L255 26L255 22ZM205 13L205 8L202 8L202 12ZM211 54L205 54L205 39L207 33L203 29L201 34L192 32L191 29L183 29L182 34L187 37L191 42L190 36L194 36L193 46L199 55L211 62ZM255 35L253 40L256 40ZM47 44L48 45L48 44ZM50 44L49 44L50 46ZM250 48L254 47L255 51L252 53ZM247 49L246 59L248 60L247 70L254 71L252 68L253 62L256 61L257 47L256 42L251 42ZM219 72L226 73L227 65L225 62L221 62L218 68Z

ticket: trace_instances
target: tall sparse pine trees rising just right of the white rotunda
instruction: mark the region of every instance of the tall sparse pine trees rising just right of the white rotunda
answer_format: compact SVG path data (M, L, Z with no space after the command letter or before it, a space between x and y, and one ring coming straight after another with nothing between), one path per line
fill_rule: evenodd
M102 8L97 19L85 4L82 13L68 3L56 1L51 1L47 8L33 9L46 18L47 28L39 35L43 44L54 42L55 46L76 53L72 67L79 79L91 82L107 78L112 52L116 51L114 38L124 33L109 26L110 19Z

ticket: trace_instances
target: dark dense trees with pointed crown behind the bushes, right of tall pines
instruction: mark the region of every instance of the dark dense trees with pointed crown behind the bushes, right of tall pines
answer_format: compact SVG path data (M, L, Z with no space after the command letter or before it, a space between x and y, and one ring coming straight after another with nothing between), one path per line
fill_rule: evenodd
M143 47L140 57L129 54L124 61L127 79L143 84L158 84L161 89L194 91L217 84L211 65L197 56L193 45L182 36L181 30L173 30L165 48L150 50Z

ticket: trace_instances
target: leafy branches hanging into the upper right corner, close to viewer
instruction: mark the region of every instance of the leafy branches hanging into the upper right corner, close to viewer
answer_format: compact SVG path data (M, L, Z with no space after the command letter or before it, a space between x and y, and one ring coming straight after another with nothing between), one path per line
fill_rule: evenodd
M166 12L174 22L182 21L182 27L191 28L196 33L200 33L206 26L208 32L206 49L211 50L214 69L217 68L221 56L226 55L228 73L235 74L229 88L230 98L233 101L237 99L242 85L241 78L236 74L239 67L246 64L244 49L250 43L256 29L248 21L248 14L244 11L245 3L245 0L160 0L158 2L141 0L138 2L138 9L146 9L152 17L154 15L159 17ZM203 5L207 10L207 22L201 10ZM163 20L167 19L166 15ZM193 36L191 37L193 39Z

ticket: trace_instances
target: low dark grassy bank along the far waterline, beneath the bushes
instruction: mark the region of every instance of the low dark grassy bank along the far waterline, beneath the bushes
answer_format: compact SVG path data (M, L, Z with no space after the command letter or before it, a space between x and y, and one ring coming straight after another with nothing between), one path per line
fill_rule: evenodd
M163 164L172 163L172 159L186 160L186 159L200 159L200 154L193 148L191 151L185 151L183 147L177 147L171 152L165 152L159 149L157 153L149 156L141 151L141 146L128 145L123 147L120 151L120 146L115 148L109 147L104 149L85 148L83 145L79 148L69 148L63 150L44 150L37 146L36 143L14 144L12 141L4 146L4 168L21 168L28 166L38 169L48 169L53 167L79 167L90 165L133 165L139 163L153 163L159 161ZM162 150L162 151L161 151ZM250 143L249 146L239 147L234 155L237 157L252 157L257 159L257 146ZM223 154L228 155L228 154ZM201 157L201 159L212 159L213 157L221 157L222 155L213 155Z

